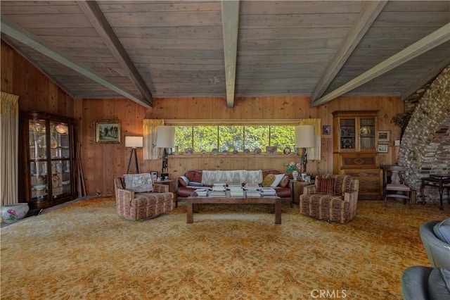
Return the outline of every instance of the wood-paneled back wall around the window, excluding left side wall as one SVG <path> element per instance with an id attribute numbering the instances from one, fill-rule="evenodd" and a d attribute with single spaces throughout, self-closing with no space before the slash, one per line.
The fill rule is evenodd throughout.
<path id="1" fill-rule="evenodd" d="M 146 109 L 127 99 L 80 99 L 75 101 L 75 115 L 82 120 L 79 134 L 83 144 L 83 165 L 86 185 L 90 193 L 113 193 L 113 178 L 127 169 L 130 149 L 124 144 L 96 144 L 95 123 L 102 119 L 119 119 L 122 122 L 122 139 L 125 135 L 142 135 L 144 118 L 170 120 L 193 119 L 300 119 L 321 118 L 322 125 L 332 125 L 332 112 L 340 110 L 378 110 L 380 130 L 392 131 L 392 144 L 399 139 L 399 129 L 390 123 L 392 115 L 403 111 L 403 101 L 386 96 L 340 97 L 319 108 L 312 108 L 307 96 L 238 98 L 234 108 L 227 108 L 223 98 L 170 98 L 155 99 L 153 109 Z M 180 149 L 182 152 L 183 149 Z M 389 154 L 380 154 L 380 163 L 394 163 L 396 156 L 391 147 Z M 161 161 L 143 161 L 143 151 L 138 149 L 139 170 L 161 171 Z M 169 173 L 172 178 L 186 170 L 269 169 L 285 170 L 285 163 L 300 161 L 297 156 L 260 155 L 179 155 L 169 156 Z M 134 171 L 134 166 L 131 165 Z M 309 172 L 333 172 L 332 135 L 322 137 L 321 161 L 309 161 Z"/>

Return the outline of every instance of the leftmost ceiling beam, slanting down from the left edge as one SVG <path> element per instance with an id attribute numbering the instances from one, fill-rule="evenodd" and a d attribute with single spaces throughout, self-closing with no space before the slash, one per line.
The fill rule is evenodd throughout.
<path id="1" fill-rule="evenodd" d="M 131 99 L 136 103 L 145 106 L 146 108 L 151 108 L 148 102 L 141 97 L 131 93 L 124 87 L 120 87 L 120 85 L 117 85 L 115 82 L 112 82 L 107 77 L 104 77 L 103 75 L 97 73 L 95 70 L 82 65 L 82 63 L 76 61 L 74 58 L 63 54 L 62 52 L 58 51 L 58 49 L 54 48 L 50 44 L 47 44 L 46 42 L 44 42 L 44 40 L 39 39 L 39 37 L 33 35 L 31 32 L 24 30 L 22 27 L 13 23 L 3 15 L 1 16 L 1 32 L 3 32 L 5 35 L 8 35 L 9 37 L 12 37 L 13 39 L 18 40 L 19 42 L 22 42 L 27 46 L 30 46 L 32 49 L 38 51 L 39 53 L 44 54 L 45 56 L 49 56 L 49 58 L 53 59 L 54 61 L 58 61 L 58 63 L 61 63 L 66 67 L 77 71 L 81 75 L 94 80 L 98 84 L 103 85 L 104 87 L 108 87 L 108 89 L 117 92 L 117 94 L 121 94 L 122 96 L 125 96 L 128 99 Z"/>

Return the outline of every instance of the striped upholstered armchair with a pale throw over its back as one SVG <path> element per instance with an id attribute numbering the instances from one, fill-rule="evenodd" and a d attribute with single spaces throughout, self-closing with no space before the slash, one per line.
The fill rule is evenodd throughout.
<path id="1" fill-rule="evenodd" d="M 168 185 L 153 184 L 149 173 L 126 174 L 114 180 L 117 215 L 142 220 L 172 211 L 174 194 Z"/>

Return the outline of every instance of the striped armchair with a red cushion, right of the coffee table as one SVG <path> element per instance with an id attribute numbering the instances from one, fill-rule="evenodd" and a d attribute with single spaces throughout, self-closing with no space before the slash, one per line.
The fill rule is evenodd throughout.
<path id="1" fill-rule="evenodd" d="M 347 223 L 356 215 L 359 180 L 349 175 L 316 176 L 314 185 L 300 195 L 300 213 L 313 218 Z"/>

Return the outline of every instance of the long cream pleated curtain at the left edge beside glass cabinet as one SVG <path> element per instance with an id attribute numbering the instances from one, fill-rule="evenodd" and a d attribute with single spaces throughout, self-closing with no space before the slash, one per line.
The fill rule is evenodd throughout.
<path id="1" fill-rule="evenodd" d="M 5 92 L 0 96 L 0 206 L 3 206 L 19 201 L 19 96 Z"/>

